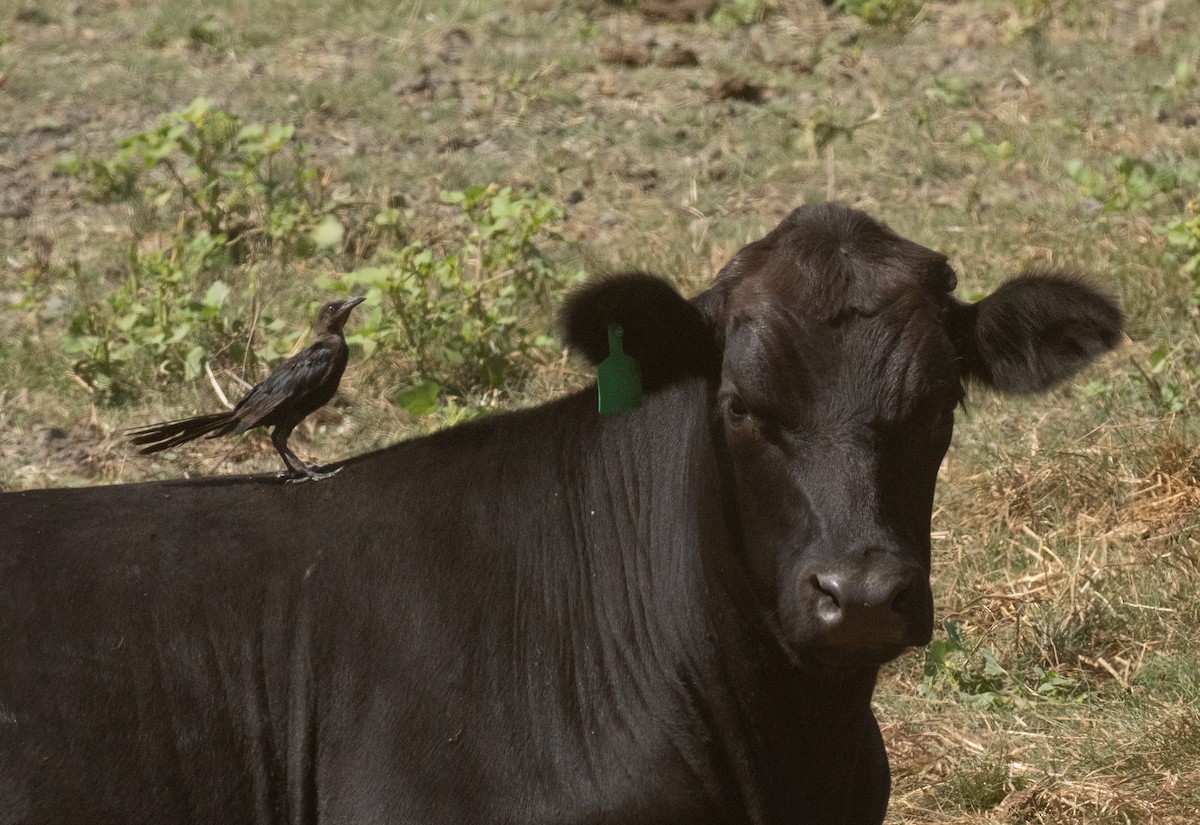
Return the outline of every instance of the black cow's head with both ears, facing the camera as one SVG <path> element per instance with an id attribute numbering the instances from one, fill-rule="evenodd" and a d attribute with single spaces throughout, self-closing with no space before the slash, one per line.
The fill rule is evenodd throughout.
<path id="1" fill-rule="evenodd" d="M 648 391 L 709 379 L 752 590 L 797 660 L 878 664 L 926 643 L 934 484 L 964 384 L 1044 390 L 1121 337 L 1120 309 L 1070 277 L 977 303 L 954 287 L 944 255 L 822 205 L 691 301 L 625 275 L 564 311 L 593 362 L 622 324 Z"/>

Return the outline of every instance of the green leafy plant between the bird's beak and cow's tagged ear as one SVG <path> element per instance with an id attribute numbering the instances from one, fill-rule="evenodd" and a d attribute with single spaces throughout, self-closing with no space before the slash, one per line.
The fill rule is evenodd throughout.
<path id="1" fill-rule="evenodd" d="M 528 359 L 553 345 L 552 307 L 583 276 L 552 265 L 541 243 L 560 240 L 562 207 L 551 198 L 491 185 L 444 192 L 460 207 L 462 233 L 434 246 L 414 241 L 368 267 L 323 278 L 326 289 L 367 289 L 362 324 L 348 336 L 370 357 L 402 351 L 410 374 L 395 395 L 420 415 L 443 389 L 456 393 L 503 386 Z"/>

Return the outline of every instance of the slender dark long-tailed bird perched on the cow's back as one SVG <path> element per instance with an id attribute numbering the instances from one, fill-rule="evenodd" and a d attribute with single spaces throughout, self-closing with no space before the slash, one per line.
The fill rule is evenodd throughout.
<path id="1" fill-rule="evenodd" d="M 232 410 L 131 429 L 130 441 L 145 445 L 139 452 L 150 454 L 202 435 L 218 438 L 245 433 L 254 427 L 274 427 L 271 444 L 288 468 L 287 477 L 318 480 L 334 475 L 336 470 L 317 472 L 296 458 L 288 448 L 288 436 L 296 424 L 337 391 L 349 355 L 342 327 L 350 309 L 362 301 L 361 297 L 350 297 L 323 306 L 313 325 L 313 342 L 272 369 Z"/>

